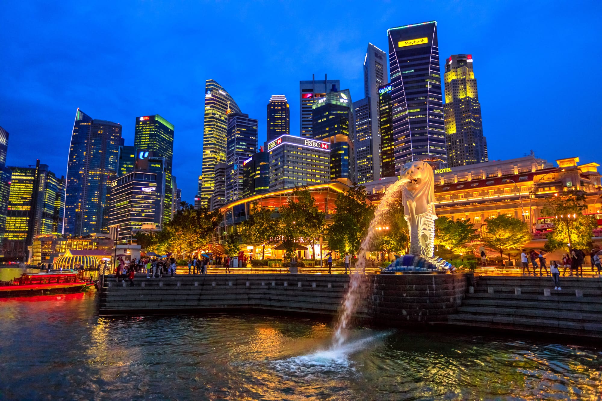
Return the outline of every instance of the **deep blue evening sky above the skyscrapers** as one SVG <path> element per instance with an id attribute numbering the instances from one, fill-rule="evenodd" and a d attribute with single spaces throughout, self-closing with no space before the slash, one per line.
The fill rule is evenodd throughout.
<path id="1" fill-rule="evenodd" d="M 368 42 L 438 21 L 441 65 L 472 54 L 489 158 L 531 149 L 602 164 L 600 1 L 4 1 L 0 126 L 10 166 L 66 173 L 76 108 L 123 125 L 161 114 L 175 125 L 173 173 L 192 202 L 201 172 L 205 79 L 216 79 L 265 140 L 270 95 L 291 104 L 299 80 L 324 73 L 364 97 Z M 442 76 L 442 74 L 441 74 Z"/>

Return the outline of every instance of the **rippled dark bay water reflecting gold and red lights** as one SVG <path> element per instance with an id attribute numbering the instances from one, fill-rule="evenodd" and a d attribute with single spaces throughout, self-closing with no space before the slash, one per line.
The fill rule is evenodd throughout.
<path id="1" fill-rule="evenodd" d="M 602 348 L 258 315 L 99 317 L 0 299 L 0 399 L 600 400 Z M 559 338 L 559 343 L 562 343 Z"/>

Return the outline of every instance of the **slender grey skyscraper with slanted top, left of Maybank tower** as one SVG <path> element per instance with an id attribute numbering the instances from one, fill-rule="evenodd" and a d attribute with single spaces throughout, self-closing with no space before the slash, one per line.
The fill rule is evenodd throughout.
<path id="1" fill-rule="evenodd" d="M 380 135 L 378 89 L 385 83 L 386 54 L 372 43 L 364 57 L 364 99 L 355 109 L 355 160 L 359 184 L 380 178 Z"/>

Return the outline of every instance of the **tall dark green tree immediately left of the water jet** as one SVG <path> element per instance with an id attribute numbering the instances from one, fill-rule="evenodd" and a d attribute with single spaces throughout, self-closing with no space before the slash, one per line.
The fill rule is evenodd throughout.
<path id="1" fill-rule="evenodd" d="M 374 207 L 366 204 L 365 187 L 355 184 L 349 191 L 338 194 L 335 206 L 337 213 L 328 229 L 328 245 L 341 254 L 356 253 L 374 218 Z"/>

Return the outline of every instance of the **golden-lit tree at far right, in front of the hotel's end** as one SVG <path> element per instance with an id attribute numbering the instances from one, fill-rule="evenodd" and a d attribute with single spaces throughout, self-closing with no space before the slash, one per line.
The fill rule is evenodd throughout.
<path id="1" fill-rule="evenodd" d="M 548 241 L 544 246 L 545 250 L 566 249 L 570 255 L 573 249 L 590 249 L 592 230 L 598 225 L 593 216 L 583 215 L 587 210 L 583 191 L 548 198 L 541 213 L 544 216 L 554 216 L 556 221 L 554 231 L 546 236 Z"/>

